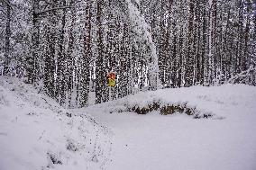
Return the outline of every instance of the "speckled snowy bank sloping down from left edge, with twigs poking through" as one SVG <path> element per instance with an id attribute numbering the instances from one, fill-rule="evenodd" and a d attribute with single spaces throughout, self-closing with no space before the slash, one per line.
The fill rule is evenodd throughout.
<path id="1" fill-rule="evenodd" d="M 0 169 L 105 169 L 112 133 L 32 85 L 0 76 Z"/>

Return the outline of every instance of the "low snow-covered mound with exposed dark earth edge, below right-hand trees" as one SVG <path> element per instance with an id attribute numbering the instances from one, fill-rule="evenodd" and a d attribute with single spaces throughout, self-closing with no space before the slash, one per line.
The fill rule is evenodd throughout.
<path id="1" fill-rule="evenodd" d="M 256 113 L 256 87 L 251 85 L 192 86 L 187 88 L 161 89 L 153 92 L 133 94 L 109 103 L 90 106 L 104 112 L 137 112 L 146 114 L 159 111 L 162 115 L 186 113 L 193 118 L 222 120 L 233 116 L 223 112 L 225 106 Z"/>

